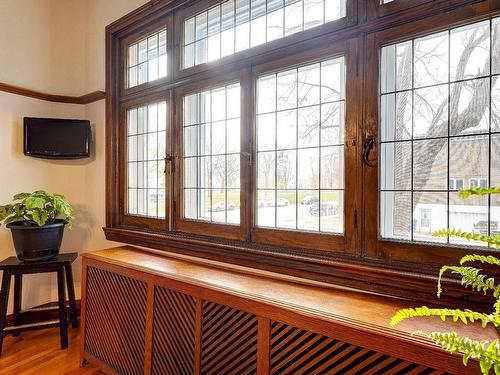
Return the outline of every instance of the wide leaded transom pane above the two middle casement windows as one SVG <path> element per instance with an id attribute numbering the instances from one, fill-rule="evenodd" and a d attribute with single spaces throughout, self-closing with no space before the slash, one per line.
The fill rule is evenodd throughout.
<path id="1" fill-rule="evenodd" d="M 346 0 L 229 0 L 184 20 L 183 68 L 345 17 Z"/>

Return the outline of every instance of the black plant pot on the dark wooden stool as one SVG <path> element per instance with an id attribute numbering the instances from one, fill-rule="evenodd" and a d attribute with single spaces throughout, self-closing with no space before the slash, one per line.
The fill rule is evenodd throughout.
<path id="1" fill-rule="evenodd" d="M 28 221 L 18 221 L 7 225 L 12 232 L 14 248 L 19 260 L 39 262 L 55 258 L 59 254 L 64 234 L 65 220 L 39 227 Z"/>

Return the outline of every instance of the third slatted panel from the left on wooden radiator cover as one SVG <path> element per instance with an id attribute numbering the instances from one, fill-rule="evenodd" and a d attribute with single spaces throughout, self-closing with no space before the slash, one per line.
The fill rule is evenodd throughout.
<path id="1" fill-rule="evenodd" d="M 257 368 L 257 317 L 203 302 L 201 373 L 203 375 L 255 374 Z"/>

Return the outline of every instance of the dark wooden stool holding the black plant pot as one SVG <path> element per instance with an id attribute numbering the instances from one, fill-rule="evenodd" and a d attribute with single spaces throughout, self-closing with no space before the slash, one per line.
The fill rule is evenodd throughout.
<path id="1" fill-rule="evenodd" d="M 21 332 L 49 327 L 59 327 L 61 349 L 66 349 L 68 347 L 68 323 L 71 322 L 73 328 L 78 327 L 75 288 L 73 285 L 73 272 L 71 269 L 71 265 L 77 257 L 78 253 L 69 253 L 59 254 L 56 258 L 43 262 L 22 262 L 16 257 L 9 257 L 0 262 L 0 270 L 3 271 L 2 287 L 0 290 L 0 356 L 2 355 L 3 338 L 6 335 L 11 334 L 18 336 Z M 57 273 L 58 307 L 21 311 L 23 275 L 46 272 Z M 6 325 L 5 320 L 7 316 L 7 304 L 9 302 L 10 281 L 12 276 L 14 276 L 14 314 L 12 324 Z M 64 285 L 65 277 L 69 296 L 69 321 Z M 59 319 L 22 324 L 24 316 L 28 314 L 36 314 L 42 310 L 58 311 Z"/>

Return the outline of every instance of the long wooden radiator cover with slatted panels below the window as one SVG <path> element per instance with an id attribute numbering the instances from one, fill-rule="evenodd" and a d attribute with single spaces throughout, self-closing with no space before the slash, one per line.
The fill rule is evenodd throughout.
<path id="1" fill-rule="evenodd" d="M 326 298 L 397 308 L 131 247 L 85 254 L 82 363 L 127 375 L 479 373 L 407 332 L 329 315 Z"/>

